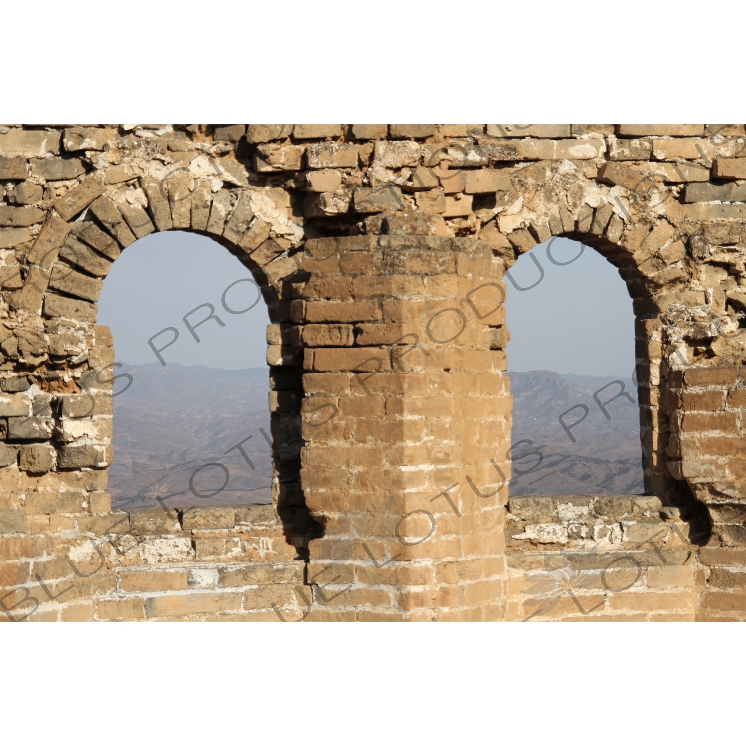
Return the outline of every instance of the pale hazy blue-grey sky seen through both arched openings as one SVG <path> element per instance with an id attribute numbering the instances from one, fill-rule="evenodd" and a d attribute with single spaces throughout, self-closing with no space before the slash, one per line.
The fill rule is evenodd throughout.
<path id="1" fill-rule="evenodd" d="M 554 239 L 551 256 L 566 262 L 577 256 L 580 244 Z M 507 324 L 512 339 L 508 366 L 512 371 L 548 369 L 579 375 L 630 377 L 634 366 L 632 301 L 617 270 L 592 248 L 574 262 L 557 266 L 547 257 L 546 244 L 524 254 L 510 269 L 507 286 Z M 104 282 L 99 301 L 99 323 L 111 327 L 116 360 L 157 363 L 148 339 L 166 327 L 178 337 L 160 354 L 166 362 L 240 369 L 266 365 L 265 331 L 269 318 L 263 299 L 246 313 L 231 314 L 222 307 L 225 289 L 251 273 L 236 257 L 205 236 L 168 231 L 145 236 L 122 252 Z M 253 283 L 242 282 L 226 296 L 228 307 L 242 310 L 257 300 Z M 212 304 L 214 319 L 195 327 L 197 342 L 183 317 L 202 304 Z M 192 326 L 209 315 L 201 308 L 188 316 Z M 153 340 L 162 348 L 174 334 Z"/>

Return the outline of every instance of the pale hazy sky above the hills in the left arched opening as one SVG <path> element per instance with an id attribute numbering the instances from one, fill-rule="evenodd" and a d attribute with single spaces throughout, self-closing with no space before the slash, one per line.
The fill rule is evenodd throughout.
<path id="1" fill-rule="evenodd" d="M 157 363 L 148 339 L 175 327 L 176 342 L 160 353 L 167 363 L 225 369 L 265 366 L 269 317 L 264 299 L 238 315 L 222 307 L 225 289 L 242 278 L 251 278 L 251 272 L 212 239 L 184 231 L 152 233 L 125 248 L 114 262 L 98 302 L 98 323 L 111 328 L 116 360 L 122 363 Z M 242 310 L 257 300 L 258 292 L 253 283 L 242 282 L 228 291 L 225 302 Z M 197 342 L 183 317 L 202 304 L 212 304 L 225 326 L 214 319 L 196 326 L 210 309 L 195 311 L 187 321 L 196 327 Z M 167 331 L 153 344 L 161 348 L 173 338 Z"/>

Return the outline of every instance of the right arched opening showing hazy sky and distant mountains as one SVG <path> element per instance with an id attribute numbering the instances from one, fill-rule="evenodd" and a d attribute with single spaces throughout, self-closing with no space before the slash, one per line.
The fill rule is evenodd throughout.
<path id="1" fill-rule="evenodd" d="M 510 493 L 642 494 L 635 319 L 617 269 L 554 238 L 521 255 L 506 286 Z"/>

